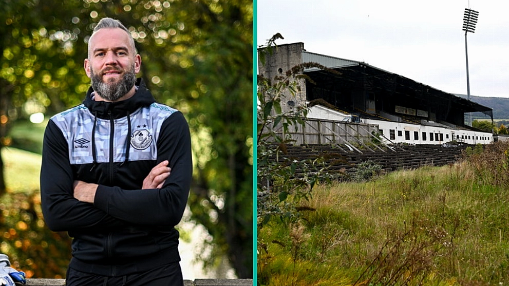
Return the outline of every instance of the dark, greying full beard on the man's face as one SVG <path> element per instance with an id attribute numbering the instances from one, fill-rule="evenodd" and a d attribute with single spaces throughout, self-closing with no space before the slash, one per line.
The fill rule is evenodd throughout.
<path id="1" fill-rule="evenodd" d="M 133 66 L 127 70 L 117 82 L 103 82 L 102 75 L 91 71 L 92 88 L 101 98 L 108 101 L 117 101 L 123 97 L 136 83 L 136 73 Z"/>

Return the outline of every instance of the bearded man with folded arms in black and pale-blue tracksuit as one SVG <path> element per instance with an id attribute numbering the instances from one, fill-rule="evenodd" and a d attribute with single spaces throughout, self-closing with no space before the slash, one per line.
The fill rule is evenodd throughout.
<path id="1" fill-rule="evenodd" d="M 88 42 L 85 100 L 46 127 L 42 209 L 73 238 L 67 286 L 183 285 L 175 225 L 191 184 L 190 132 L 136 79 L 140 67 L 129 30 L 103 18 Z"/>

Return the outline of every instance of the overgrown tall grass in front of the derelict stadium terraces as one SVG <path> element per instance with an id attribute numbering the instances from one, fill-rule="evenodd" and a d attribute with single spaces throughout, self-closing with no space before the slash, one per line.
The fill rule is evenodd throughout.
<path id="1" fill-rule="evenodd" d="M 317 186 L 298 224 L 259 231 L 258 284 L 509 283 L 508 150 Z"/>

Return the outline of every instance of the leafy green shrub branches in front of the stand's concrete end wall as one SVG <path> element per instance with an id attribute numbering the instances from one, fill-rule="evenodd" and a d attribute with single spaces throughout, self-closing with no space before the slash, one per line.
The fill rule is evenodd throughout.
<path id="1" fill-rule="evenodd" d="M 265 63 L 277 49 L 277 39 L 283 37 L 277 33 L 268 40 L 267 46 L 260 47 L 261 63 Z M 295 159 L 290 158 L 287 152 L 288 147 L 295 143 L 290 134 L 305 127 L 309 107 L 297 104 L 291 110 L 283 110 L 281 101 L 295 98 L 300 91 L 299 83 L 304 80 L 313 83 L 303 73 L 309 68 L 340 74 L 317 63 L 303 63 L 273 79 L 258 75 L 258 227 L 267 224 L 272 217 L 283 221 L 295 220 L 298 217 L 297 203 L 310 198 L 316 183 L 331 178 L 323 158 Z"/>

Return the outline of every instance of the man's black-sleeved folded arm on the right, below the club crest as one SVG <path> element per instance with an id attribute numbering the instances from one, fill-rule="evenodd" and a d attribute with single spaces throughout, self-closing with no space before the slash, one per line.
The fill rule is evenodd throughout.
<path id="1" fill-rule="evenodd" d="M 169 116 L 161 126 L 157 139 L 157 162 L 163 161 L 168 161 L 171 174 L 163 180 L 162 185 L 159 183 L 162 177 L 146 179 L 146 186 L 152 188 L 127 190 L 117 186 L 98 185 L 93 205 L 108 215 L 129 223 L 156 227 L 175 226 L 180 222 L 187 203 L 193 166 L 191 136 L 187 122 L 180 112 Z M 157 174 L 160 173 L 155 171 L 154 178 L 158 177 Z M 144 185 L 147 182 L 144 182 Z"/>

